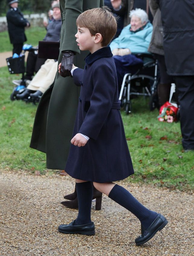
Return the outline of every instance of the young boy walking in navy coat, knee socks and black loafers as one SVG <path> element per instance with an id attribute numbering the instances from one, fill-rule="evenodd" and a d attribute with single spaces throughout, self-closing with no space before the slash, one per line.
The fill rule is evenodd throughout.
<path id="1" fill-rule="evenodd" d="M 116 33 L 116 20 L 107 8 L 94 8 L 80 14 L 76 24 L 80 50 L 90 51 L 84 70 L 75 66 L 71 70 L 81 92 L 65 171 L 76 179 L 79 210 L 76 220 L 60 225 L 58 230 L 66 234 L 95 234 L 91 221 L 93 183 L 140 220 L 141 235 L 135 243 L 142 245 L 168 221 L 113 183 L 134 173 L 119 111 L 116 68 L 107 46 Z"/>

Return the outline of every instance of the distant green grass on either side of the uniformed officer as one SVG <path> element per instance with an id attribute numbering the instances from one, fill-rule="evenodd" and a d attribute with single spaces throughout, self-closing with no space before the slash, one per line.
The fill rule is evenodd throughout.
<path id="1" fill-rule="evenodd" d="M 44 27 L 30 27 L 25 30 L 27 37 L 27 44 L 33 46 L 38 45 L 38 41 L 43 40 L 46 35 L 46 29 Z M 1 44 L 0 52 L 9 52 L 12 51 L 13 45 L 10 43 L 8 31 L 0 32 Z"/>

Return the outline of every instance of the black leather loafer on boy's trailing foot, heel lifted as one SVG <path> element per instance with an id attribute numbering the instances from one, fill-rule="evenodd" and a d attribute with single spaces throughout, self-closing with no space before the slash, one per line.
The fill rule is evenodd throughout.
<path id="1" fill-rule="evenodd" d="M 145 230 L 142 228 L 142 234 L 135 239 L 136 245 L 142 245 L 149 241 L 156 234 L 156 232 L 163 229 L 167 223 L 167 219 L 162 214 L 158 214 L 148 229 Z"/>

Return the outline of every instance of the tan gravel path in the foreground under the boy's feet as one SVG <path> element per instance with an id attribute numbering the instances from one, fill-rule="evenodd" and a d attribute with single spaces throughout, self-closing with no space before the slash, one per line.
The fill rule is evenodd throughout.
<path id="1" fill-rule="evenodd" d="M 145 245 L 135 245 L 139 221 L 105 195 L 101 211 L 95 211 L 92 203 L 95 236 L 58 233 L 59 224 L 77 215 L 77 210 L 60 204 L 63 195 L 74 190 L 74 180 L 0 171 L 0 256 L 194 255 L 192 195 L 123 181 L 118 184 L 169 220 Z"/>

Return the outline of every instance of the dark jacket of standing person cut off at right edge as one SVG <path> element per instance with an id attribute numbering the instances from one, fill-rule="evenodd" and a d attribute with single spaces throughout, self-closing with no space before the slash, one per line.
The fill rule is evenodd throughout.
<path id="1" fill-rule="evenodd" d="M 194 75 L 194 2 L 160 0 L 167 73 Z"/>

